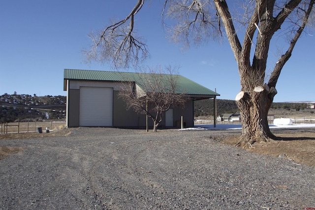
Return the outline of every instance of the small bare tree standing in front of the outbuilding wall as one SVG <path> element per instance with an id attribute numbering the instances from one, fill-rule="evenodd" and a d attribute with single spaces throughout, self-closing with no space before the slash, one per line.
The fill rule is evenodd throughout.
<path id="1" fill-rule="evenodd" d="M 135 78 L 126 78 L 119 97 L 137 113 L 146 114 L 154 123 L 156 132 L 162 116 L 171 106 L 183 106 L 186 102 L 185 93 L 178 92 L 178 74 L 175 68 L 167 67 L 165 74 L 161 67 L 138 73 Z"/>

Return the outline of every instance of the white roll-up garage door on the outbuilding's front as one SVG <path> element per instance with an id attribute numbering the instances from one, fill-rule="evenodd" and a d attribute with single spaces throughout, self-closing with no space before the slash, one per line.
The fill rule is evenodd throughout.
<path id="1" fill-rule="evenodd" d="M 113 126 L 113 89 L 80 87 L 80 126 Z"/>

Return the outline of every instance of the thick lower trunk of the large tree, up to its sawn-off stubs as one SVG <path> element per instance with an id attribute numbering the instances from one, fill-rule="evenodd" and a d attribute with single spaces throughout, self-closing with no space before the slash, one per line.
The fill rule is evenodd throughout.
<path id="1" fill-rule="evenodd" d="M 268 126 L 267 115 L 277 92 L 274 88 L 255 87 L 252 91 L 241 91 L 235 98 L 241 111 L 242 135 L 237 146 L 251 147 L 252 143 L 277 140 Z"/>

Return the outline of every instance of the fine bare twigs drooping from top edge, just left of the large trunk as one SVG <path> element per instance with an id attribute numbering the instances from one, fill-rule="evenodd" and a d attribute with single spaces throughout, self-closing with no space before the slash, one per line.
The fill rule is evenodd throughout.
<path id="1" fill-rule="evenodd" d="M 165 0 L 162 18 L 177 21 L 169 29 L 170 37 L 175 43 L 181 42 L 184 48 L 189 48 L 190 41 L 199 45 L 211 38 L 218 39 L 219 18 L 213 14 L 215 7 L 210 0 Z"/>

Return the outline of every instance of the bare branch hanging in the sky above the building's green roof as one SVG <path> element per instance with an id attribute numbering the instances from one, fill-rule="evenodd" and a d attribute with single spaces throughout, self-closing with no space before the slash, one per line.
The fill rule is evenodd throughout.
<path id="1" fill-rule="evenodd" d="M 87 61 L 112 62 L 114 68 L 128 68 L 129 64 L 137 67 L 149 56 L 147 45 L 142 37 L 134 31 L 134 16 L 142 8 L 144 0 L 138 0 L 137 4 L 124 20 L 113 22 L 102 32 L 89 35 L 92 45 L 85 50 Z M 126 23 L 129 21 L 129 25 Z"/>

